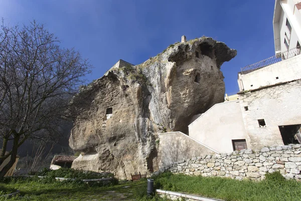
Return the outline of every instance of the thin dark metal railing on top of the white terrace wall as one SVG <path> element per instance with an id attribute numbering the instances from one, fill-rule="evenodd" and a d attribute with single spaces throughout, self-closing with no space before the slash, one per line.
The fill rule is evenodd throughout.
<path id="1" fill-rule="evenodd" d="M 241 68 L 241 74 L 247 74 L 247 73 L 253 72 L 254 70 L 258 70 L 260 68 L 272 65 L 274 63 L 278 63 L 278 62 L 283 61 L 285 59 L 297 56 L 297 55 L 300 54 L 300 49 L 301 49 L 300 47 L 295 47 L 295 48 L 290 49 L 288 51 L 277 53 L 275 56 L 264 59 L 264 60 L 259 61 L 257 63 L 247 65 L 247 66 Z"/>

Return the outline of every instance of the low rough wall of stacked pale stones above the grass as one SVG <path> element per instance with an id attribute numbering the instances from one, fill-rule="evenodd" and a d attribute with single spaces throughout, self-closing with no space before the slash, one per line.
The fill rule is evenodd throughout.
<path id="1" fill-rule="evenodd" d="M 214 154 L 175 163 L 160 171 L 188 175 L 222 176 L 235 179 L 261 180 L 267 172 L 280 171 L 285 178 L 300 179 L 301 145 L 290 144 L 263 147 L 259 152 L 251 149 L 228 154 Z"/>

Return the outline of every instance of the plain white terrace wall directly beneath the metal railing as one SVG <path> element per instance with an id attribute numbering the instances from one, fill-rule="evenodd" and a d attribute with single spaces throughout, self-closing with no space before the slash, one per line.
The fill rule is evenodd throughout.
<path id="1" fill-rule="evenodd" d="M 278 77 L 278 79 L 276 79 L 276 77 Z M 259 87 L 300 78 L 301 55 L 297 55 L 247 74 L 239 74 L 238 84 L 240 91 L 253 90 Z"/>

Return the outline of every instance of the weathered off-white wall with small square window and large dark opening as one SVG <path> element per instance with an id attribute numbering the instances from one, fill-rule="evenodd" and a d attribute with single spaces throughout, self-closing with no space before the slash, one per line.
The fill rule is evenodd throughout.
<path id="1" fill-rule="evenodd" d="M 296 80 L 244 95 L 241 111 L 251 149 L 283 145 L 278 126 L 301 124 L 300 94 L 301 80 Z M 264 119 L 266 127 L 259 127 L 259 119 Z"/>

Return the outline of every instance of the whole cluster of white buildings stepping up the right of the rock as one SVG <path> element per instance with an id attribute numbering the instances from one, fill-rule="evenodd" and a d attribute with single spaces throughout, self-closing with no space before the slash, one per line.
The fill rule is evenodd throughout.
<path id="1" fill-rule="evenodd" d="M 168 143 L 180 132 L 160 134 L 160 167 L 200 156 L 199 147 L 208 154 L 301 143 L 301 4 L 276 0 L 273 23 L 275 56 L 241 68 L 240 91 L 196 115 L 185 143 Z"/>

